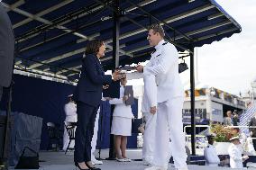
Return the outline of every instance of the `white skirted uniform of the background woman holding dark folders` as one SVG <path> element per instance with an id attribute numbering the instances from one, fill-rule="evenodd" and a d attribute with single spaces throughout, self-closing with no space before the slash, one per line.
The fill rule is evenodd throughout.
<path id="1" fill-rule="evenodd" d="M 124 87 L 120 86 L 120 98 L 114 98 L 109 101 L 114 104 L 113 121 L 111 127 L 111 134 L 121 136 L 132 135 L 132 119 L 133 112 L 131 105 L 126 105 L 123 102 Z"/>

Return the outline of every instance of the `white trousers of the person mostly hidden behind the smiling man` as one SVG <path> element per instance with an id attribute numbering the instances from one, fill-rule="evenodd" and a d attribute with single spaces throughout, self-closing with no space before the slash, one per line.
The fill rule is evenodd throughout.
<path id="1" fill-rule="evenodd" d="M 143 118 L 146 124 L 143 134 L 142 159 L 152 164 L 157 115 L 143 112 Z"/>

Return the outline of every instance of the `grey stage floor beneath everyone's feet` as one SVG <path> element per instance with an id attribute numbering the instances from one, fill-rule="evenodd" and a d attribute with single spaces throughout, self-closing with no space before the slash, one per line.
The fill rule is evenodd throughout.
<path id="1" fill-rule="evenodd" d="M 96 155 L 98 157 L 98 155 Z M 108 157 L 108 149 L 104 149 L 101 152 L 101 157 Z M 128 149 L 127 157 L 132 159 L 142 158 L 142 149 Z M 40 170 L 76 170 L 73 164 L 73 152 L 68 152 L 67 155 L 64 152 L 51 152 L 41 151 L 40 153 Z M 148 166 L 143 166 L 142 161 L 133 162 L 117 162 L 115 160 L 103 160 L 104 164 L 100 167 L 102 170 L 143 170 Z M 10 169 L 14 169 L 10 167 Z M 78 169 L 78 168 L 77 168 Z M 173 165 L 169 164 L 169 170 L 174 170 Z M 194 166 L 189 165 L 189 170 L 230 170 L 229 167 L 211 167 L 211 166 Z M 246 168 L 245 168 L 246 169 Z"/>

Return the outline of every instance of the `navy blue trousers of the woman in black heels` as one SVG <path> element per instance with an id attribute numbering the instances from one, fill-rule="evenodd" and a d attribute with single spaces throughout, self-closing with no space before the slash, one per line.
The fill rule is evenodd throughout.
<path id="1" fill-rule="evenodd" d="M 87 103 L 77 103 L 78 126 L 75 139 L 75 162 L 91 160 L 91 141 L 94 135 L 97 109 L 98 107 Z"/>

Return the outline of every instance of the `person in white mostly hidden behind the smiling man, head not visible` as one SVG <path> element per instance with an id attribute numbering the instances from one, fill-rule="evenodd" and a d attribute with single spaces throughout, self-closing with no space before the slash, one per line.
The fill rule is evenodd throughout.
<path id="1" fill-rule="evenodd" d="M 143 131 L 142 160 L 144 166 L 152 164 L 153 147 L 156 127 L 156 107 L 157 107 L 157 85 L 156 76 L 150 72 L 143 72 L 144 94 L 142 98 L 142 113 L 145 127 Z"/>

